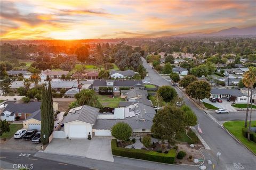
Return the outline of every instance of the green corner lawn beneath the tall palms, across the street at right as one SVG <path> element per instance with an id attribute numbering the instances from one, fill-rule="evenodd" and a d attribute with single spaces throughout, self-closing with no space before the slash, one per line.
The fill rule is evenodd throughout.
<path id="1" fill-rule="evenodd" d="M 252 126 L 256 125 L 256 121 L 252 121 Z M 253 141 L 247 141 L 242 134 L 242 128 L 244 127 L 244 121 L 229 121 L 223 123 L 223 126 L 232 133 L 240 142 L 246 147 L 250 148 L 254 154 L 256 154 L 256 143 Z"/>

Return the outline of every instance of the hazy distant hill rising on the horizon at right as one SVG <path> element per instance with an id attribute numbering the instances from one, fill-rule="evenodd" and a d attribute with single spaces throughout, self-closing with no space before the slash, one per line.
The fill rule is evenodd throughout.
<path id="1" fill-rule="evenodd" d="M 212 37 L 212 36 L 247 36 L 247 35 L 256 35 L 256 26 L 247 27 L 247 28 L 228 28 L 220 30 L 217 32 L 211 33 L 202 33 L 202 32 L 191 32 L 183 33 L 180 35 L 175 35 L 173 37 Z"/>

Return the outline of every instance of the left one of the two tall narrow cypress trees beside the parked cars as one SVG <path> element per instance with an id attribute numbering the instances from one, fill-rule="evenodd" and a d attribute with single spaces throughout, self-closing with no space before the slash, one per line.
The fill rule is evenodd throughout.
<path id="1" fill-rule="evenodd" d="M 43 86 L 42 88 L 42 102 L 41 102 L 41 141 L 43 145 L 48 143 L 49 140 L 49 119 L 47 112 L 47 98 L 46 90 Z"/>

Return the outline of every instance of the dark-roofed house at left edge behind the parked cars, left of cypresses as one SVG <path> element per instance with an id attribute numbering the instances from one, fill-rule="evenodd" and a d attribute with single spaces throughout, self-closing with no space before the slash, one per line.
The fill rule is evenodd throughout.
<path id="1" fill-rule="evenodd" d="M 25 120 L 33 112 L 40 109 L 41 102 L 33 101 L 29 103 L 8 103 L 1 113 L 1 120 L 15 121 L 15 117 L 19 116 L 19 120 Z"/>

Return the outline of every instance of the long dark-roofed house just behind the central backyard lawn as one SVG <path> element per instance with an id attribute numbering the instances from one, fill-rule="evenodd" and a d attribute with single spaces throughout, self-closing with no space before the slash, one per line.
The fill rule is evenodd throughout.
<path id="1" fill-rule="evenodd" d="M 141 80 L 94 80 L 92 89 L 99 91 L 99 87 L 110 87 L 114 92 L 119 91 L 120 88 L 144 89 Z"/>

